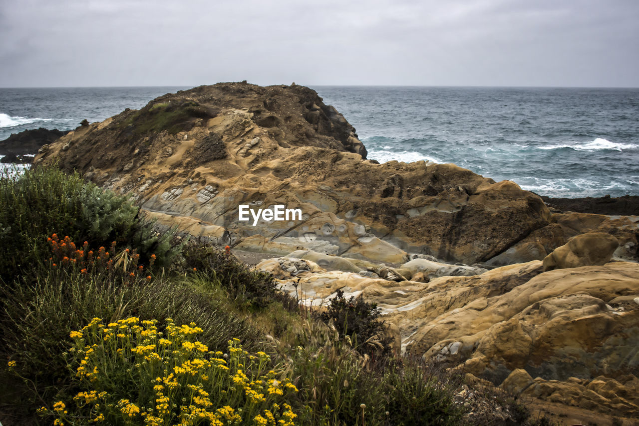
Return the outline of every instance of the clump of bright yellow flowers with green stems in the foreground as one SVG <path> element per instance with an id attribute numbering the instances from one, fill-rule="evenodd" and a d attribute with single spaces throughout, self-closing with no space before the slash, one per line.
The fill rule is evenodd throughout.
<path id="1" fill-rule="evenodd" d="M 238 338 L 226 353 L 210 351 L 195 323 L 165 323 L 95 318 L 72 331 L 73 395 L 40 413 L 70 425 L 295 424 L 288 400 L 298 390 L 265 352 L 245 351 Z"/>

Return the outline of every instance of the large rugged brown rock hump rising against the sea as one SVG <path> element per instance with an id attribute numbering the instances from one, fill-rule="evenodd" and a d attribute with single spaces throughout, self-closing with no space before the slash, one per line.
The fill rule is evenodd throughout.
<path id="1" fill-rule="evenodd" d="M 355 129 L 303 86 L 164 95 L 43 146 L 36 162 L 53 161 L 134 194 L 167 224 L 249 251 L 500 265 L 543 259 L 573 232 L 512 182 L 453 164 L 367 161 Z M 240 204 L 299 208 L 302 220 L 252 226 L 238 220 Z M 633 244 L 627 257 L 635 232 L 615 235 Z"/>

